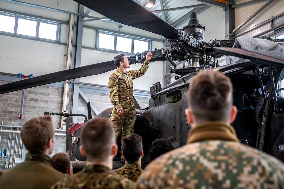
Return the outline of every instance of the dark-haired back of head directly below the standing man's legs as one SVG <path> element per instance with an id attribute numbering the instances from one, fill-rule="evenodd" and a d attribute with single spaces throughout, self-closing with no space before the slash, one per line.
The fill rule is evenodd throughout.
<path id="1" fill-rule="evenodd" d="M 128 163 L 134 163 L 140 158 L 143 150 L 142 137 L 132 133 L 122 138 L 122 151 Z"/>

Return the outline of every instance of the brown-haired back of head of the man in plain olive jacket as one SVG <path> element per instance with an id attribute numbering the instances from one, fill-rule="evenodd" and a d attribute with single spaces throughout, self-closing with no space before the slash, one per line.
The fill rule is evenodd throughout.
<path id="1" fill-rule="evenodd" d="M 55 134 L 50 116 L 33 117 L 26 121 L 21 129 L 21 137 L 30 153 L 42 153 L 46 144 Z"/>

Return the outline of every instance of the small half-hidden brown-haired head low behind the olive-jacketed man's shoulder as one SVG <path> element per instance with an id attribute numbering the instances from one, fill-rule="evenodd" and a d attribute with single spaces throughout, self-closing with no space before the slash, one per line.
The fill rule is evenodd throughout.
<path id="1" fill-rule="evenodd" d="M 69 158 L 69 154 L 66 152 L 60 152 L 52 156 L 52 167 L 61 173 L 65 173 L 68 176 L 73 175 L 73 167 Z"/>

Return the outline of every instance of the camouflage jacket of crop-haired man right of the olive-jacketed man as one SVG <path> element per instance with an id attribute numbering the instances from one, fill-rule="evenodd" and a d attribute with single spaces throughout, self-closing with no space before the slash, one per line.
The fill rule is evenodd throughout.
<path id="1" fill-rule="evenodd" d="M 82 171 L 60 180 L 51 188 L 133 188 L 134 183 L 103 165 L 87 165 Z"/>

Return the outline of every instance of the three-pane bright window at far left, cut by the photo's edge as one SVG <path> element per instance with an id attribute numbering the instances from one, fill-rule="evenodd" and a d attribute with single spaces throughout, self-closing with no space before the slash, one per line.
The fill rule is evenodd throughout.
<path id="1" fill-rule="evenodd" d="M 0 33 L 59 42 L 60 23 L 0 11 Z"/>

